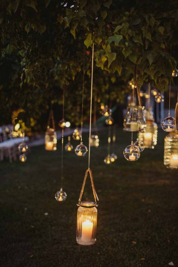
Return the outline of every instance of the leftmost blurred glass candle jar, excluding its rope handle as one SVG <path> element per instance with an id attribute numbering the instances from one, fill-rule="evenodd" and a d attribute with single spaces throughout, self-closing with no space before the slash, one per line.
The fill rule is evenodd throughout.
<path id="1" fill-rule="evenodd" d="M 53 128 L 47 129 L 45 133 L 45 149 L 50 151 L 57 149 L 57 134 Z"/>

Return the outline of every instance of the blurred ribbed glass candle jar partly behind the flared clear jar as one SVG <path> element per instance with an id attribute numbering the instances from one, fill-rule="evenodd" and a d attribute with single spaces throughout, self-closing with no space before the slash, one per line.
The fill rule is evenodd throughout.
<path id="1" fill-rule="evenodd" d="M 145 148 L 155 148 L 157 144 L 158 125 L 151 120 L 147 120 L 145 132 L 139 132 L 139 141 L 144 143 Z"/>

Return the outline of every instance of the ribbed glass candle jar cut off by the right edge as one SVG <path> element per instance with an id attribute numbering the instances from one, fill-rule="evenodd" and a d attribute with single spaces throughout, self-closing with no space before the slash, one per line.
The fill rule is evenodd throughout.
<path id="1" fill-rule="evenodd" d="M 164 165 L 178 170 L 178 130 L 169 133 L 164 138 Z"/>

